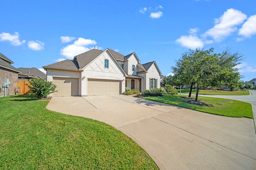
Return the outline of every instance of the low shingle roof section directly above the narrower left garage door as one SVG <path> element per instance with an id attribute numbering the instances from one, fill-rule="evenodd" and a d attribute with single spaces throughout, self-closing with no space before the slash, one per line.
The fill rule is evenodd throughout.
<path id="1" fill-rule="evenodd" d="M 55 68 L 55 69 L 59 68 L 59 69 L 74 70 L 74 71 L 79 70 L 77 61 L 73 61 L 73 60 L 63 60 L 58 63 L 53 63 L 47 66 L 43 66 L 43 68 Z"/>

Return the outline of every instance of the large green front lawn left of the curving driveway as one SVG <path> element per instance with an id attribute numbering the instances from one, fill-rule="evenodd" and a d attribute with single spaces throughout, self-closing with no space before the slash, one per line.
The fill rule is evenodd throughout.
<path id="1" fill-rule="evenodd" d="M 1 169 L 158 169 L 121 131 L 47 104 L 24 95 L 0 98 Z"/>

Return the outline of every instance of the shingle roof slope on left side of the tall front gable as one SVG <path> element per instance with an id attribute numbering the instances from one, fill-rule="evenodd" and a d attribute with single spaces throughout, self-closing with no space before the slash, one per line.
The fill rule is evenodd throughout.
<path id="1" fill-rule="evenodd" d="M 80 55 L 77 55 L 74 57 L 76 58 L 78 63 L 78 68 L 83 68 L 87 64 L 89 64 L 91 61 L 93 61 L 98 55 L 100 55 L 103 51 L 98 49 L 92 49 L 90 51 L 86 51 L 85 53 L 82 53 Z"/>

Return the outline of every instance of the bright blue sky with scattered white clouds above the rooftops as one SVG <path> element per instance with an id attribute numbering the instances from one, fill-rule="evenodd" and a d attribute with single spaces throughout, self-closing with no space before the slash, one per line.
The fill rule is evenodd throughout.
<path id="1" fill-rule="evenodd" d="M 16 68 L 42 68 L 96 47 L 135 52 L 168 75 L 188 49 L 213 47 L 243 54 L 242 80 L 256 78 L 255 0 L 2 0 L 0 6 L 0 53 Z"/>

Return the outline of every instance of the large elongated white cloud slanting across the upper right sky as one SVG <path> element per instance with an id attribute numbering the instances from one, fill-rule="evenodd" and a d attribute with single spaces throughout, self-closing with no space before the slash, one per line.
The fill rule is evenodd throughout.
<path id="1" fill-rule="evenodd" d="M 211 29 L 208 29 L 202 37 L 206 38 L 210 36 L 214 41 L 220 42 L 225 37 L 228 37 L 231 33 L 237 30 L 236 25 L 240 25 L 246 20 L 247 16 L 241 11 L 228 9 L 224 14 L 214 19 L 215 25 Z"/>

